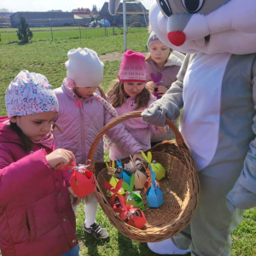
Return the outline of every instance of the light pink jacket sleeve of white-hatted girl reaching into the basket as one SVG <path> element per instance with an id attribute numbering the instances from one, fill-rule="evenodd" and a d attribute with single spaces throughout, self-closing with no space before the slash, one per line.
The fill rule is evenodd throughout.
<path id="1" fill-rule="evenodd" d="M 106 108 L 105 111 L 105 124 L 107 125 L 109 121 L 113 119 L 111 113 L 108 112 Z M 143 147 L 137 143 L 136 139 L 131 136 L 130 132 L 125 130 L 125 126 L 122 123 L 115 125 L 107 132 L 108 137 L 111 138 L 113 143 L 119 144 L 119 147 L 127 148 L 129 154 L 135 154 L 141 152 Z"/>

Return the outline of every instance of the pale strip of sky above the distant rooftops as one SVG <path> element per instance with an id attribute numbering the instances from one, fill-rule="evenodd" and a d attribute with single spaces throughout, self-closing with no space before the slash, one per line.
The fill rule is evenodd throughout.
<path id="1" fill-rule="evenodd" d="M 93 4 L 96 4 L 97 9 L 101 9 L 105 2 L 108 0 L 0 0 L 0 9 L 12 12 L 61 9 L 70 12 L 81 7 L 91 10 Z"/>

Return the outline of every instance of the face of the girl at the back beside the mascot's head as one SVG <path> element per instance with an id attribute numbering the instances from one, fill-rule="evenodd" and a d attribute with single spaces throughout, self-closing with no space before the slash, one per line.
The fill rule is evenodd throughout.
<path id="1" fill-rule="evenodd" d="M 164 65 L 170 54 L 171 49 L 165 44 L 157 41 L 150 45 L 149 52 L 152 60 L 159 66 Z"/>

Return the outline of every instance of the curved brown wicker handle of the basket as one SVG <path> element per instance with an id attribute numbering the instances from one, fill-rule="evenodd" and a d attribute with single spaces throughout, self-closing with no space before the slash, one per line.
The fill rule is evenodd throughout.
<path id="1" fill-rule="evenodd" d="M 94 155 L 94 153 L 96 151 L 96 147 L 97 147 L 98 143 L 100 142 L 100 140 L 102 139 L 103 135 L 109 129 L 113 128 L 113 126 L 118 125 L 120 122 L 123 122 L 126 119 L 141 117 L 142 113 L 143 113 L 142 111 L 132 111 L 132 112 L 129 112 L 129 113 L 124 113 L 122 115 L 119 115 L 115 119 L 111 120 L 107 125 L 105 125 L 102 128 L 102 130 L 98 133 L 98 135 L 95 138 L 95 140 L 93 141 L 93 143 L 91 143 L 91 145 L 90 145 L 90 150 L 89 150 L 87 159 L 91 160 L 91 165 L 90 165 L 90 168 L 89 168 L 91 171 L 93 171 L 93 169 L 94 169 L 93 155 Z M 172 124 L 172 121 L 170 119 L 166 119 L 166 125 L 169 125 L 169 127 L 174 132 L 177 146 L 179 148 L 183 148 L 183 146 L 184 146 L 183 137 L 182 137 L 181 133 L 177 130 L 177 127 Z"/>

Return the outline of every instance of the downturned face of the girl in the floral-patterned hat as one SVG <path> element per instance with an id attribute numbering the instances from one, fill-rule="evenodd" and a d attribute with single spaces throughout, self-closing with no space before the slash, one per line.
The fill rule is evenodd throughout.
<path id="1" fill-rule="evenodd" d="M 20 130 L 32 141 L 39 141 L 47 135 L 51 129 L 56 112 L 33 113 L 11 117 L 10 121 L 16 123 Z"/>

